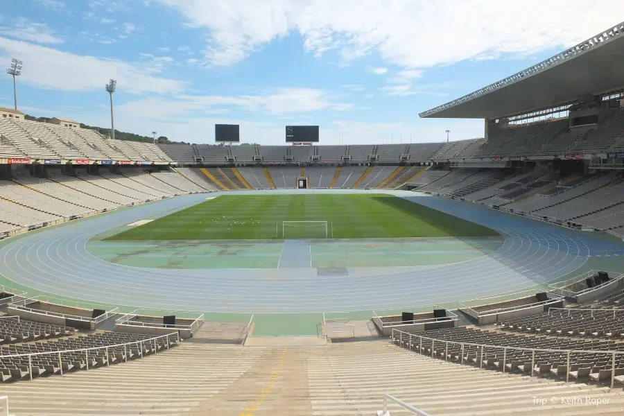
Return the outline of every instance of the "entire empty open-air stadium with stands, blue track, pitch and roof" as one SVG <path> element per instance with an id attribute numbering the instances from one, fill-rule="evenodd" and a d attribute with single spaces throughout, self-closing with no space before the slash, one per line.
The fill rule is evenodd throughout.
<path id="1" fill-rule="evenodd" d="M 4 414 L 621 415 L 623 55 L 619 24 L 419 114 L 484 120 L 443 143 L 0 108 Z"/>

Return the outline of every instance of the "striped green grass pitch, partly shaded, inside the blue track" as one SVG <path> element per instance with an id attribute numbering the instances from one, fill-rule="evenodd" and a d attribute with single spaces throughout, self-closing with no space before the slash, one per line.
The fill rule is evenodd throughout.
<path id="1" fill-rule="evenodd" d="M 383 194 L 219 196 L 107 240 L 335 239 L 497 236 L 487 227 Z"/>

